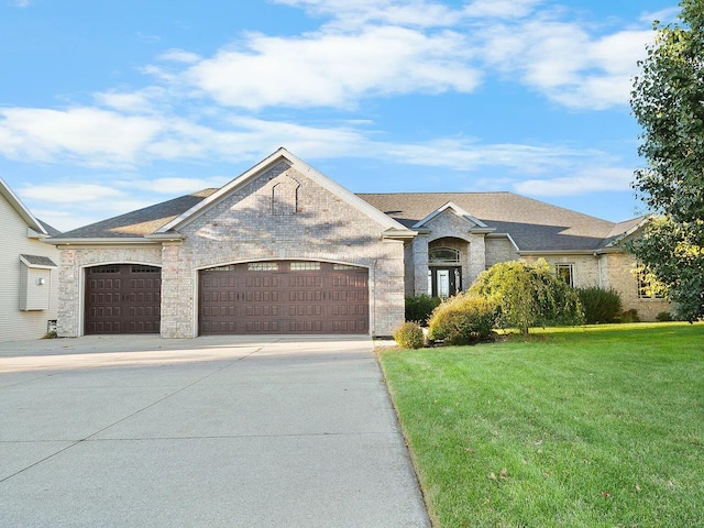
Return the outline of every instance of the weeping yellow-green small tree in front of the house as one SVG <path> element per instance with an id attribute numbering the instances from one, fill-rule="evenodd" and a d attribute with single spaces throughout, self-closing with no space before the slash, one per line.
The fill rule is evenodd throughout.
<path id="1" fill-rule="evenodd" d="M 579 324 L 582 306 L 576 292 L 558 278 L 543 258 L 535 264 L 510 261 L 482 272 L 469 289 L 499 309 L 499 324 L 527 334 L 530 327 Z"/>

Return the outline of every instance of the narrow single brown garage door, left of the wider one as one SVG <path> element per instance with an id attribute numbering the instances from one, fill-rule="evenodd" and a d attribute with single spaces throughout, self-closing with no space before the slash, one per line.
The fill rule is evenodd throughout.
<path id="1" fill-rule="evenodd" d="M 86 270 L 86 334 L 158 333 L 162 270 L 111 264 Z"/>

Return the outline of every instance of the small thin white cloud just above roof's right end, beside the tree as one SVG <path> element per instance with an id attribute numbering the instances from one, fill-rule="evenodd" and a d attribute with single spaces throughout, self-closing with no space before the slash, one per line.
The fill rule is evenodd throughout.
<path id="1" fill-rule="evenodd" d="M 520 182 L 514 188 L 517 193 L 529 196 L 576 196 L 629 190 L 632 178 L 634 172 L 629 168 L 591 167 L 571 176 Z"/>

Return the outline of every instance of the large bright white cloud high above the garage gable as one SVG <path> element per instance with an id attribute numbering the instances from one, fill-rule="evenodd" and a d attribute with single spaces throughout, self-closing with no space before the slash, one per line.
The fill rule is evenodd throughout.
<path id="1" fill-rule="evenodd" d="M 394 26 L 295 38 L 251 34 L 184 79 L 227 106 L 344 107 L 364 96 L 469 92 L 479 73 L 465 62 L 466 47 L 455 32 Z"/>

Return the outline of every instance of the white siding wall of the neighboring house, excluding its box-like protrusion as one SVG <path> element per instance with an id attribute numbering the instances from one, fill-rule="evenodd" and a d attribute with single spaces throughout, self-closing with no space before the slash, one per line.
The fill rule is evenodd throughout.
<path id="1" fill-rule="evenodd" d="M 20 310 L 20 254 L 48 256 L 58 263 L 58 250 L 38 240 L 28 239 L 28 226 L 18 212 L 0 196 L 0 341 L 38 339 L 46 334 L 46 324 L 56 319 L 58 305 L 58 271 L 52 270 L 47 310 Z M 43 272 L 48 272 L 43 271 Z"/>

